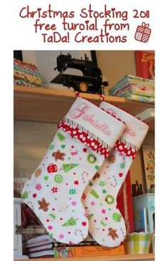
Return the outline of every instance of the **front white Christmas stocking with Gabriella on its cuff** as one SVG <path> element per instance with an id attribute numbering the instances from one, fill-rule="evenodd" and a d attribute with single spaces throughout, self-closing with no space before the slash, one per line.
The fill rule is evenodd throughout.
<path id="1" fill-rule="evenodd" d="M 88 235 L 88 218 L 80 201 L 83 191 L 125 124 L 78 97 L 58 128 L 22 198 L 52 237 L 76 244 Z"/>

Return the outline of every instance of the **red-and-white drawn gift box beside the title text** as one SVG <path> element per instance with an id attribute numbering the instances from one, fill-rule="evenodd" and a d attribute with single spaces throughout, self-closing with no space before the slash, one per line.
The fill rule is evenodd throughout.
<path id="1" fill-rule="evenodd" d="M 151 29 L 149 29 L 149 24 L 145 24 L 145 22 L 143 22 L 141 26 L 137 26 L 137 30 L 135 32 L 135 40 L 147 43 L 150 34 Z"/>

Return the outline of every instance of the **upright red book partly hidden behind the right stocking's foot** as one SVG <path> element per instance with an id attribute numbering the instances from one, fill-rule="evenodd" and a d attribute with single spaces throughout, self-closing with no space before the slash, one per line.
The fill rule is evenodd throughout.
<path id="1" fill-rule="evenodd" d="M 127 232 L 134 232 L 134 214 L 132 205 L 132 190 L 131 190 L 131 179 L 130 171 L 128 171 L 125 178 L 125 182 L 122 184 L 120 191 L 117 195 L 117 205 L 125 219 L 125 224 L 127 227 Z"/>

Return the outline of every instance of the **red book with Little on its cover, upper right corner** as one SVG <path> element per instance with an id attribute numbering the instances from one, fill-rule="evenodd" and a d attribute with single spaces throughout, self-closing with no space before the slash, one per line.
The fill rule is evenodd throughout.
<path id="1" fill-rule="evenodd" d="M 154 80 L 154 51 L 135 51 L 137 76 Z"/>

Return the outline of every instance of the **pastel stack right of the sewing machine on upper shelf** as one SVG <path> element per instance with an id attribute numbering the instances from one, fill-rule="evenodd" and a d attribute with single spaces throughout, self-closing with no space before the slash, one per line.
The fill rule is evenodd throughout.
<path id="1" fill-rule="evenodd" d="M 110 89 L 109 95 L 154 103 L 154 80 L 127 75 Z"/>

